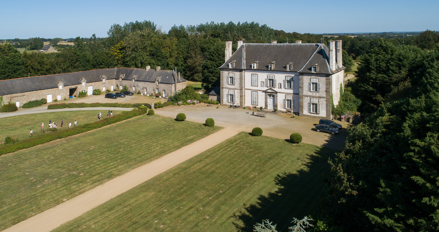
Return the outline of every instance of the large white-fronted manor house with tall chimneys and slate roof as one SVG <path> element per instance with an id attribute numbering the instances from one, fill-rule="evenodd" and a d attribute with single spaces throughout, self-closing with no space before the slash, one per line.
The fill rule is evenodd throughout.
<path id="1" fill-rule="evenodd" d="M 331 95 L 338 105 L 340 88 L 344 88 L 341 40 L 329 41 L 329 48 L 300 40 L 238 41 L 237 47 L 232 55 L 232 42 L 226 42 L 226 62 L 219 67 L 221 104 L 331 118 Z"/>

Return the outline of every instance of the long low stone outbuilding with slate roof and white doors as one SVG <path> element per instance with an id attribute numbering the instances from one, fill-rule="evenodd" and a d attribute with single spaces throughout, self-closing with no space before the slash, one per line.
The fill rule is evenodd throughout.
<path id="1" fill-rule="evenodd" d="M 186 87 L 186 80 L 175 70 L 140 68 L 113 68 L 55 74 L 37 77 L 23 77 L 0 81 L 0 95 L 4 102 L 15 102 L 20 107 L 24 103 L 46 98 L 74 98 L 79 91 L 92 95 L 94 89 L 115 91 L 127 86 L 130 91 L 143 94 L 160 94 L 168 97 Z M 103 96 L 102 96 L 103 97 Z"/>

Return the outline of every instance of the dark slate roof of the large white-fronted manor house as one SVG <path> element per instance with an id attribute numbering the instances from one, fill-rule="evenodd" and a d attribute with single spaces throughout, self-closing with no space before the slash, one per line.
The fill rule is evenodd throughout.
<path id="1" fill-rule="evenodd" d="M 246 43 L 219 68 L 228 69 L 230 62 L 233 69 L 243 70 L 252 69 L 253 62 L 258 63 L 254 70 L 268 70 L 268 64 L 274 63 L 273 71 L 287 71 L 286 64 L 292 63 L 291 72 L 300 73 L 311 73 L 311 66 L 317 64 L 317 73 L 335 73 L 329 68 L 329 49 L 319 43 Z"/>

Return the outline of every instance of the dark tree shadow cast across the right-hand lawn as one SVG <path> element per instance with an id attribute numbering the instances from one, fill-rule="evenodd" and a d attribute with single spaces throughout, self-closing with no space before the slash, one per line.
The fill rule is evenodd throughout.
<path id="1" fill-rule="evenodd" d="M 243 205 L 243 209 L 231 216 L 237 231 L 253 232 L 256 223 L 269 219 L 277 225 L 278 231 L 287 231 L 293 218 L 302 219 L 311 214 L 324 194 L 324 176 L 329 173 L 328 158 L 334 157 L 334 149 L 320 148 L 316 154 L 309 155 L 305 168 L 295 173 L 282 173 L 274 178 L 277 190 L 266 196 L 259 195 L 256 204 Z"/>

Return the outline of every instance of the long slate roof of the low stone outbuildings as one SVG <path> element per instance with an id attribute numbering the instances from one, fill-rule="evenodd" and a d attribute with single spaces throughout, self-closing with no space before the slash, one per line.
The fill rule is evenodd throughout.
<path id="1" fill-rule="evenodd" d="M 136 81 L 155 82 L 156 77 L 162 77 L 161 84 L 174 84 L 173 70 L 155 69 L 146 71 L 140 68 L 108 68 L 75 73 L 54 74 L 36 77 L 22 77 L 0 81 L 0 95 L 24 93 L 43 89 L 57 88 L 58 81 L 62 81 L 64 86 L 81 84 L 81 79 L 85 78 L 87 83 L 101 81 L 101 75 L 105 75 L 107 80 L 119 80 L 120 74 L 125 74 L 123 80 L 132 80 L 133 75 L 137 75 Z M 178 76 L 178 75 L 176 75 Z M 186 81 L 183 77 L 177 77 L 177 83 Z"/>

